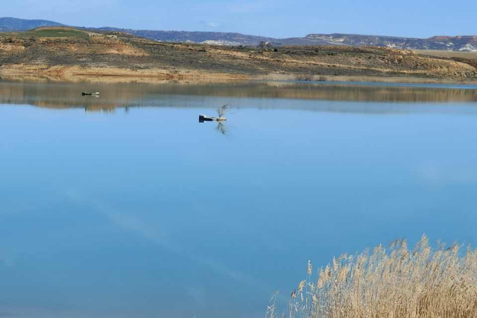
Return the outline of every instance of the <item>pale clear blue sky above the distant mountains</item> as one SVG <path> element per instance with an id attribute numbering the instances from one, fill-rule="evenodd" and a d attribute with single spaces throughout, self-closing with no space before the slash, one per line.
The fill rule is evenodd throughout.
<path id="1" fill-rule="evenodd" d="M 2 1 L 4 2 L 4 1 Z M 271 37 L 358 33 L 410 37 L 477 34 L 477 1 L 442 0 L 16 0 L 0 16 L 79 26 L 240 32 Z"/>

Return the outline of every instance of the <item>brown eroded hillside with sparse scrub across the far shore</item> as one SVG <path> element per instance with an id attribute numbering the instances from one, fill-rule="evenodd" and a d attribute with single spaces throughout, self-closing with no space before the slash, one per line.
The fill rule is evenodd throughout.
<path id="1" fill-rule="evenodd" d="M 463 61 L 377 47 L 161 43 L 54 27 L 0 34 L 2 76 L 476 81 L 474 60 Z"/>

